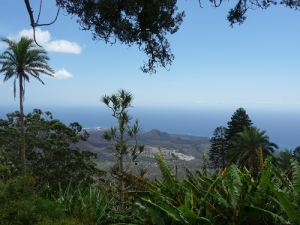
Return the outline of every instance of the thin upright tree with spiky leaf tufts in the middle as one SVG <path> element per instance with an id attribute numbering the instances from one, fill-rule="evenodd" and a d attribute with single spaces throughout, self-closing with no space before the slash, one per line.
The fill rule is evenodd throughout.
<path id="1" fill-rule="evenodd" d="M 117 199 L 111 208 L 113 213 L 130 215 L 132 207 L 123 192 L 132 189 L 132 184 L 127 182 L 126 174 L 131 173 L 132 165 L 137 164 L 137 157 L 144 151 L 144 145 L 137 144 L 137 134 L 141 130 L 139 121 L 136 120 L 131 127 L 132 117 L 128 115 L 128 108 L 132 107 L 133 95 L 123 89 L 111 96 L 104 95 L 101 101 L 113 111 L 112 116 L 118 120 L 118 127 L 105 131 L 102 137 L 111 143 L 112 154 L 117 158 L 117 163 L 111 169 L 113 182 L 112 195 Z M 128 141 L 134 140 L 130 145 Z"/>

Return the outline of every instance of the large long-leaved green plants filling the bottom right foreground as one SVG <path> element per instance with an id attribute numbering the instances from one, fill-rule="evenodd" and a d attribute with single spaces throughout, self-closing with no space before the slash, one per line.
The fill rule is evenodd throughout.
<path id="1" fill-rule="evenodd" d="M 255 180 L 253 169 L 241 171 L 232 164 L 212 178 L 196 176 L 185 167 L 188 180 L 181 184 L 161 152 L 156 160 L 163 180 L 156 181 L 156 189 L 148 189 L 148 196 L 137 193 L 134 203 L 146 224 L 275 225 L 299 221 L 300 167 L 296 161 L 292 162 L 294 184 L 276 169 L 270 156 Z"/>

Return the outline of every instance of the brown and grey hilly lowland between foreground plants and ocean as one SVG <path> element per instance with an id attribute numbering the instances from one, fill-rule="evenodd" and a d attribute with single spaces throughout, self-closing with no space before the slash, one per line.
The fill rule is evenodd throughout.
<path id="1" fill-rule="evenodd" d="M 79 142 L 76 146 L 81 150 L 90 150 L 97 153 L 96 162 L 100 168 L 109 170 L 115 163 L 116 158 L 111 154 L 110 143 L 101 136 L 107 128 L 89 129 L 90 137 L 87 141 Z M 127 138 L 127 137 L 126 137 Z M 178 176 L 184 176 L 182 165 L 187 165 L 191 170 L 202 166 L 202 149 L 208 151 L 210 140 L 208 137 L 197 137 L 184 134 L 169 134 L 153 129 L 149 132 L 140 132 L 138 143 L 145 144 L 145 151 L 139 156 L 139 163 L 134 167 L 134 171 L 141 168 L 148 168 L 148 176 L 160 176 L 154 155 L 160 146 L 165 154 L 166 160 L 171 168 L 177 165 Z M 130 141 L 129 144 L 134 144 Z M 171 153 L 178 156 L 179 160 L 174 160 Z M 133 171 L 133 173 L 134 173 Z"/>

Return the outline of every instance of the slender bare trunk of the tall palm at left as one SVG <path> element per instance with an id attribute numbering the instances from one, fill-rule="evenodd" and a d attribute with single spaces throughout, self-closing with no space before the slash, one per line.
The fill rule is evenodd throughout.
<path id="1" fill-rule="evenodd" d="M 25 132 L 24 132 L 24 113 L 23 113 L 23 85 L 22 76 L 19 75 L 20 85 L 20 113 L 21 113 L 21 160 L 22 160 L 22 176 L 26 176 L 26 156 L 25 156 Z"/>

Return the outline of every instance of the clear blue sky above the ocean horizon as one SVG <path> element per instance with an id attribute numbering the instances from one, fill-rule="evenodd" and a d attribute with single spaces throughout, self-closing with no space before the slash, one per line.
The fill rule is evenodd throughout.
<path id="1" fill-rule="evenodd" d="M 209 1 L 202 1 L 204 8 L 197 0 L 178 1 L 186 17 L 168 36 L 175 60 L 170 71 L 153 75 L 139 69 L 147 57 L 136 46 L 95 42 L 76 17 L 61 12 L 37 32 L 57 78 L 42 76 L 45 86 L 31 79 L 24 107 L 99 105 L 102 95 L 124 88 L 136 107 L 300 111 L 300 13 L 280 5 L 249 10 L 245 23 L 231 28 L 226 16 L 235 3 L 215 9 Z M 36 18 L 39 1 L 31 4 Z M 44 1 L 40 22 L 52 21 L 56 10 L 54 0 Z M 32 33 L 24 1 L 1 0 L 0 21 L 1 37 Z M 0 84 L 0 107 L 19 107 L 12 87 L 13 80 Z"/>

